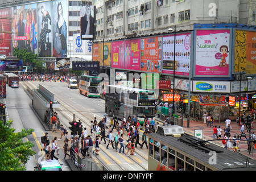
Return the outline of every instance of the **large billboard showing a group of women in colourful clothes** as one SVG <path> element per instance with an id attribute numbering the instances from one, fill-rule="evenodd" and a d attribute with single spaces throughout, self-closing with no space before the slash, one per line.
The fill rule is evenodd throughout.
<path id="1" fill-rule="evenodd" d="M 11 7 L 13 14 L 13 47 L 27 49 L 28 52 L 38 53 L 37 38 L 37 9 L 36 3 Z"/>

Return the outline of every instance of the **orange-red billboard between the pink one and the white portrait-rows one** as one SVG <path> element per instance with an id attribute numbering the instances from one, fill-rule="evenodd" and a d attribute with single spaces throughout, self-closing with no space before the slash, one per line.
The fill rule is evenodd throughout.
<path id="1" fill-rule="evenodd" d="M 162 37 L 141 39 L 141 71 L 162 73 Z"/>

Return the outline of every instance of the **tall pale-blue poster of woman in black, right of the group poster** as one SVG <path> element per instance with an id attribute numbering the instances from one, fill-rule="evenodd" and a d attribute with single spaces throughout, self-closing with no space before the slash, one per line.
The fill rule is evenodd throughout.
<path id="1" fill-rule="evenodd" d="M 38 51 L 39 57 L 52 56 L 51 1 L 38 3 Z"/>

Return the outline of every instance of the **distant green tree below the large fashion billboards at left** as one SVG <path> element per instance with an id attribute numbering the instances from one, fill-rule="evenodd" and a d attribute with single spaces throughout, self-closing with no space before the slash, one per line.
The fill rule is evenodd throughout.
<path id="1" fill-rule="evenodd" d="M 24 66 L 33 67 L 33 69 L 42 72 L 43 67 L 42 61 L 38 59 L 38 55 L 34 55 L 31 52 L 27 52 L 26 49 L 14 49 L 14 56 L 17 56 L 18 59 L 23 60 Z"/>

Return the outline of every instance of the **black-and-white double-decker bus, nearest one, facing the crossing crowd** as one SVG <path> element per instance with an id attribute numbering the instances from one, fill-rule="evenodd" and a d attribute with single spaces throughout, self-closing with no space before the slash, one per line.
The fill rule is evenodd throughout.
<path id="1" fill-rule="evenodd" d="M 155 117 L 155 92 L 122 85 L 108 85 L 105 113 L 114 118 Z"/>

